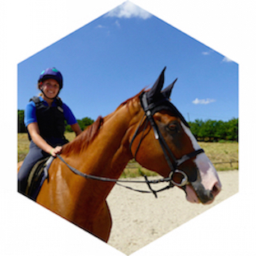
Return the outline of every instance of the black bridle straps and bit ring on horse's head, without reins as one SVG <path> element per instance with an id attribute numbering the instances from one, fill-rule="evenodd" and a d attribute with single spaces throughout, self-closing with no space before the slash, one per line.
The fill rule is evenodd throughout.
<path id="1" fill-rule="evenodd" d="M 173 110 L 173 111 L 175 111 L 175 114 L 177 114 L 179 116 L 179 118 L 183 121 L 183 123 L 187 127 L 189 127 L 189 124 L 185 121 L 183 115 L 179 113 L 179 110 L 175 108 L 175 105 L 170 103 L 170 101 L 167 100 L 167 99 L 162 99 L 162 100 L 157 101 L 156 103 L 154 102 L 154 103 L 151 103 L 150 105 L 148 105 L 148 103 L 147 103 L 147 93 L 143 92 L 142 95 L 140 95 L 140 100 L 141 100 L 142 109 L 144 110 L 145 115 L 146 115 L 147 123 L 148 122 L 151 123 L 151 127 L 153 128 L 156 140 L 158 140 L 158 142 L 160 143 L 161 149 L 162 149 L 162 151 L 164 152 L 164 155 L 165 155 L 165 161 L 167 162 L 167 164 L 170 168 L 170 175 L 169 175 L 170 182 L 172 184 L 176 185 L 176 186 L 184 187 L 186 184 L 189 183 L 189 178 L 188 178 L 188 175 L 186 175 L 183 170 L 178 169 L 179 165 L 182 165 L 185 161 L 188 161 L 189 159 L 191 159 L 191 158 L 197 156 L 198 154 L 202 153 L 203 149 L 200 148 L 196 151 L 193 151 L 193 152 L 191 152 L 187 155 L 182 156 L 179 160 L 177 160 L 175 158 L 173 152 L 170 150 L 170 147 L 168 147 L 167 143 L 165 142 L 165 138 L 161 134 L 161 132 L 160 132 L 160 130 L 159 130 L 157 124 L 156 124 L 155 119 L 153 119 L 153 114 L 155 114 L 156 112 L 159 112 L 161 109 Z M 142 117 L 142 119 L 144 119 L 144 116 Z M 145 129 L 147 127 L 147 123 L 146 123 L 146 125 L 143 129 L 142 137 L 143 137 L 143 133 L 145 132 Z M 135 137 L 137 137 L 137 133 L 139 131 L 139 128 L 141 127 L 141 124 L 142 124 L 142 120 L 139 123 L 139 125 L 137 127 L 137 130 L 135 131 L 135 133 L 133 135 L 133 138 L 130 142 L 130 146 L 129 146 L 130 151 L 131 151 L 131 148 L 132 148 L 133 141 L 134 141 Z M 142 137 L 141 137 L 141 140 L 140 140 L 140 142 L 137 146 L 135 154 L 133 156 L 134 159 L 136 159 L 137 151 L 138 151 L 138 149 L 141 145 L 141 142 L 142 142 Z M 132 155 L 133 155 L 133 153 L 132 153 Z M 180 183 L 176 183 L 175 180 L 173 179 L 174 175 L 177 174 L 177 173 L 179 173 L 179 175 L 183 176 L 183 179 L 181 180 Z"/>

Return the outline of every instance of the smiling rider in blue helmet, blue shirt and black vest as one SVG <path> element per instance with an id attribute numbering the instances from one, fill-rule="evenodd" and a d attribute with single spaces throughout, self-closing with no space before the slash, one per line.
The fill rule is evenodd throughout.
<path id="1" fill-rule="evenodd" d="M 30 151 L 18 173 L 18 191 L 26 192 L 30 170 L 37 161 L 47 157 L 56 157 L 67 143 L 64 137 L 65 120 L 72 130 L 79 135 L 81 128 L 71 109 L 59 99 L 58 93 L 63 88 L 63 76 L 55 67 L 46 68 L 40 74 L 39 97 L 30 99 L 26 105 L 25 124 L 30 137 Z"/>

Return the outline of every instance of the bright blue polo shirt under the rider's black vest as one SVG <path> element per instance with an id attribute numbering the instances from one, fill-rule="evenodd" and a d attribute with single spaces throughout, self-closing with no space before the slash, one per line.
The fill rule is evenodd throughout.
<path id="1" fill-rule="evenodd" d="M 48 103 L 41 96 L 39 98 L 40 98 L 40 101 L 43 101 L 44 105 L 48 106 Z M 54 102 L 52 103 L 52 106 L 53 107 L 57 106 L 56 100 L 54 100 Z M 62 108 L 63 108 L 64 118 L 66 119 L 67 124 L 72 125 L 77 123 L 77 119 L 72 114 L 71 109 L 69 109 L 68 106 L 64 103 Z M 38 123 L 35 115 L 35 102 L 33 100 L 31 100 L 30 103 L 26 105 L 24 123 L 26 127 L 30 123 Z"/>

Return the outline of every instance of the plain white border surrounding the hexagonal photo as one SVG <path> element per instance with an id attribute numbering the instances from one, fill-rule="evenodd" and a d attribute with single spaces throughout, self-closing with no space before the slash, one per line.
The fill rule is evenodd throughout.
<path id="1" fill-rule="evenodd" d="M 16 193 L 16 65 L 123 1 L 5 1 L 0 7 L 2 255 L 123 255 Z M 255 253 L 255 5 L 252 0 L 134 0 L 163 21 L 240 64 L 240 193 L 133 255 Z M 40 14 L 41 13 L 41 14 Z M 10 104 L 12 102 L 12 104 Z M 244 107 L 245 106 L 245 107 Z M 10 109 L 11 114 L 7 109 Z M 252 117 L 252 116 L 251 116 Z M 15 123 L 16 124 L 16 123 Z M 249 143 L 247 143 L 249 142 Z M 243 151 L 246 149 L 246 151 Z M 7 158 L 8 157 L 8 158 Z M 11 160 L 10 160 L 11 159 Z M 245 161 L 248 159 L 248 161 Z M 7 164 L 7 161 L 11 164 Z M 10 181 L 11 180 L 11 181 Z M 7 181 L 7 182 L 6 182 Z M 171 213 L 170 213 L 171 214 Z M 36 216 L 36 217 L 35 217 Z M 209 222 L 211 220 L 211 222 Z M 202 225 L 203 223 L 203 225 Z M 44 230 L 41 232 L 40 230 Z M 64 232 L 65 230 L 65 232 Z M 29 242 L 30 241 L 30 242 Z"/>

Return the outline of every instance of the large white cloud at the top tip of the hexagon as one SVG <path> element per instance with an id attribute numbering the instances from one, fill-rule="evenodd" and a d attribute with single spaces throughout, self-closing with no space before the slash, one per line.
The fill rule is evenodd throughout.
<path id="1" fill-rule="evenodd" d="M 146 12 L 140 7 L 137 7 L 132 2 L 123 2 L 119 7 L 114 8 L 114 10 L 108 12 L 106 16 L 119 17 L 119 18 L 132 18 L 138 17 L 146 20 L 151 17 L 149 12 Z"/>

